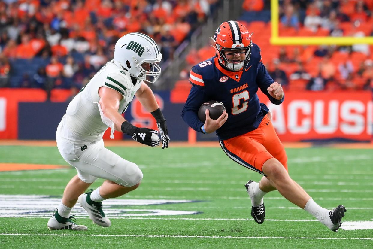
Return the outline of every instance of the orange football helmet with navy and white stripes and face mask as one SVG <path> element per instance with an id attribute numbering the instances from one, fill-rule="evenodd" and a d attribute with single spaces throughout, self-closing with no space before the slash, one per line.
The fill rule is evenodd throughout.
<path id="1" fill-rule="evenodd" d="M 212 39 L 212 37 L 211 37 Z M 242 71 L 250 60 L 250 49 L 253 46 L 251 34 L 247 28 L 237 21 L 226 21 L 220 24 L 216 29 L 213 38 L 215 42 L 216 56 L 219 62 L 229 71 Z M 225 51 L 246 51 L 245 59 L 240 61 L 233 61 L 226 58 Z"/>

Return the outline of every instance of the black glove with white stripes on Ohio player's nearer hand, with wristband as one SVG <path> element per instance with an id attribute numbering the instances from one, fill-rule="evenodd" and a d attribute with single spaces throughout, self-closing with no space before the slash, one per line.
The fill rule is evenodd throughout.
<path id="1" fill-rule="evenodd" d="M 121 129 L 123 133 L 132 136 L 132 139 L 139 143 L 151 147 L 156 147 L 159 145 L 160 139 L 157 135 L 158 131 L 156 130 L 139 128 L 130 124 L 128 121 L 123 122 Z"/>

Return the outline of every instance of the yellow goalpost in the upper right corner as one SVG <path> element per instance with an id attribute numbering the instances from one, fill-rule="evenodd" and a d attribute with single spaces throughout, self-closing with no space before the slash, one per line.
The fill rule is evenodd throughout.
<path id="1" fill-rule="evenodd" d="M 273 45 L 352 45 L 373 44 L 373 37 L 285 37 L 279 36 L 279 0 L 271 0 L 271 38 Z"/>

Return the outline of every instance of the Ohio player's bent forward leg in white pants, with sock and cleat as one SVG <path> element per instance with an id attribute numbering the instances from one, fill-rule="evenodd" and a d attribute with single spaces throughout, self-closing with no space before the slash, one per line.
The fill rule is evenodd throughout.
<path id="1" fill-rule="evenodd" d="M 106 179 L 97 189 L 81 194 L 78 202 L 94 223 L 109 227 L 111 222 L 102 210 L 102 201 L 136 189 L 142 180 L 140 168 L 106 149 L 102 140 L 88 144 L 74 166 L 94 177 Z"/>

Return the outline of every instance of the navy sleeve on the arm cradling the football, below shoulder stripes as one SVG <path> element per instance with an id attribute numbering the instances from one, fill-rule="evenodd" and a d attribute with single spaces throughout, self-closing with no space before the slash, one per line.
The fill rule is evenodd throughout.
<path id="1" fill-rule="evenodd" d="M 200 106 L 206 101 L 207 96 L 204 93 L 204 90 L 193 85 L 182 110 L 181 116 L 184 121 L 189 125 L 189 127 L 198 132 L 201 132 L 201 127 L 204 124 L 198 118 L 198 109 L 200 109 Z"/>

